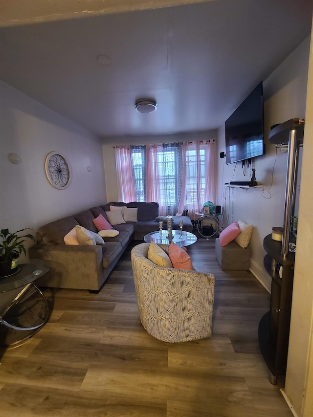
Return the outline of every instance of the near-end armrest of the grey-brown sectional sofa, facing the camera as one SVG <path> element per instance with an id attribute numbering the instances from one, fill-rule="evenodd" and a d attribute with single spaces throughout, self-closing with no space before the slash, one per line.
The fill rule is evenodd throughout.
<path id="1" fill-rule="evenodd" d="M 38 285 L 98 290 L 104 283 L 100 245 L 36 245 L 29 257 L 43 259 L 50 268 Z"/>

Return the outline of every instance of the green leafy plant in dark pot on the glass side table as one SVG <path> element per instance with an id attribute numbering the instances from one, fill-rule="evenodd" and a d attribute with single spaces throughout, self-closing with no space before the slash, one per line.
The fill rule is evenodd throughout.
<path id="1" fill-rule="evenodd" d="M 35 238 L 31 234 L 19 236 L 18 233 L 24 230 L 31 229 L 22 229 L 18 230 L 15 233 L 10 233 L 9 229 L 2 229 L 0 231 L 0 276 L 5 277 L 8 275 L 13 275 L 17 267 L 17 259 L 20 254 L 23 252 L 26 255 L 26 249 L 24 246 L 24 238 L 31 239 L 35 241 Z"/>

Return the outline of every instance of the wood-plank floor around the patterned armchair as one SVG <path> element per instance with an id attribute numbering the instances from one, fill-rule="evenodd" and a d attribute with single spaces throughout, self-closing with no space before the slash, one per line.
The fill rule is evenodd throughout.
<path id="1" fill-rule="evenodd" d="M 259 351 L 269 295 L 254 276 L 221 271 L 214 240 L 188 247 L 216 277 L 213 335 L 165 343 L 140 324 L 130 250 L 99 294 L 45 291 L 48 323 L 2 351 L 0 416 L 292 417 Z"/>

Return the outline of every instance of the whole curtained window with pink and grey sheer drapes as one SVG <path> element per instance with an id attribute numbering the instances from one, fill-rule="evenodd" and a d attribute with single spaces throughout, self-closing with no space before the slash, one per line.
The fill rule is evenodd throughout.
<path id="1" fill-rule="evenodd" d="M 216 201 L 215 141 L 115 148 L 121 201 L 157 201 L 160 215 L 192 220 L 205 201 Z"/>

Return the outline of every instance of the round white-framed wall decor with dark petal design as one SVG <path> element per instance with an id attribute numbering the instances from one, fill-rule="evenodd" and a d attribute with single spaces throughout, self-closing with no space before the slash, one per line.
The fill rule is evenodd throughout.
<path id="1" fill-rule="evenodd" d="M 64 190 L 70 180 L 70 170 L 66 158 L 57 152 L 50 152 L 45 158 L 45 175 L 53 187 Z"/>

